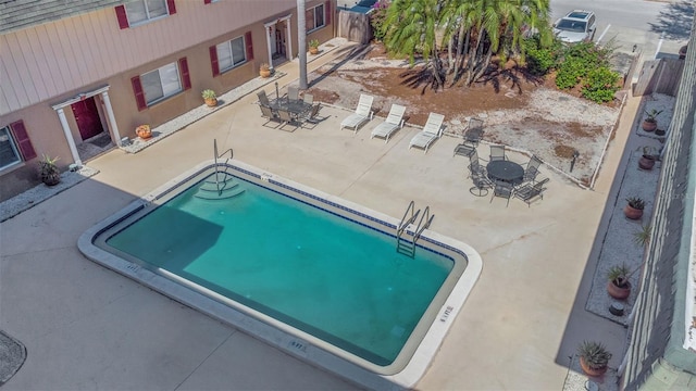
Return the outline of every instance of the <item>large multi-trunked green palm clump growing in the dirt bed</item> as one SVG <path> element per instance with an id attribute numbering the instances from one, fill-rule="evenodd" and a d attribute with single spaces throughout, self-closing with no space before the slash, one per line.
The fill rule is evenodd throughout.
<path id="1" fill-rule="evenodd" d="M 525 28 L 538 30 L 548 43 L 548 12 L 549 0 L 395 0 L 387 10 L 385 45 L 411 61 L 422 52 L 426 61 L 431 59 L 436 84 L 443 85 L 438 48 L 447 42 L 452 83 L 465 76 L 465 85 L 471 85 L 487 70 L 493 55 L 504 60 L 524 56 Z M 440 42 L 435 39 L 437 34 L 443 35 Z"/>

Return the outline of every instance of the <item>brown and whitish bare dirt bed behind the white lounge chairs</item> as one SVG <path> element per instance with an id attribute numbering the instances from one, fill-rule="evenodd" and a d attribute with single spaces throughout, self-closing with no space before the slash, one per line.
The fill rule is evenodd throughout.
<path id="1" fill-rule="evenodd" d="M 382 117 L 391 103 L 403 104 L 407 125 L 422 126 L 430 112 L 444 114 L 445 133 L 450 136 L 461 135 L 470 117 L 482 118 L 485 141 L 536 154 L 584 185 L 598 169 L 619 118 L 618 100 L 596 104 L 577 91 L 558 91 L 551 78 L 525 77 L 514 67 L 469 88 L 447 86 L 439 91 L 422 83 L 414 70 L 408 61 L 389 60 L 381 46 L 371 45 L 310 74 L 308 92 L 348 110 L 355 109 L 361 92 L 372 94 L 375 115 Z"/>

